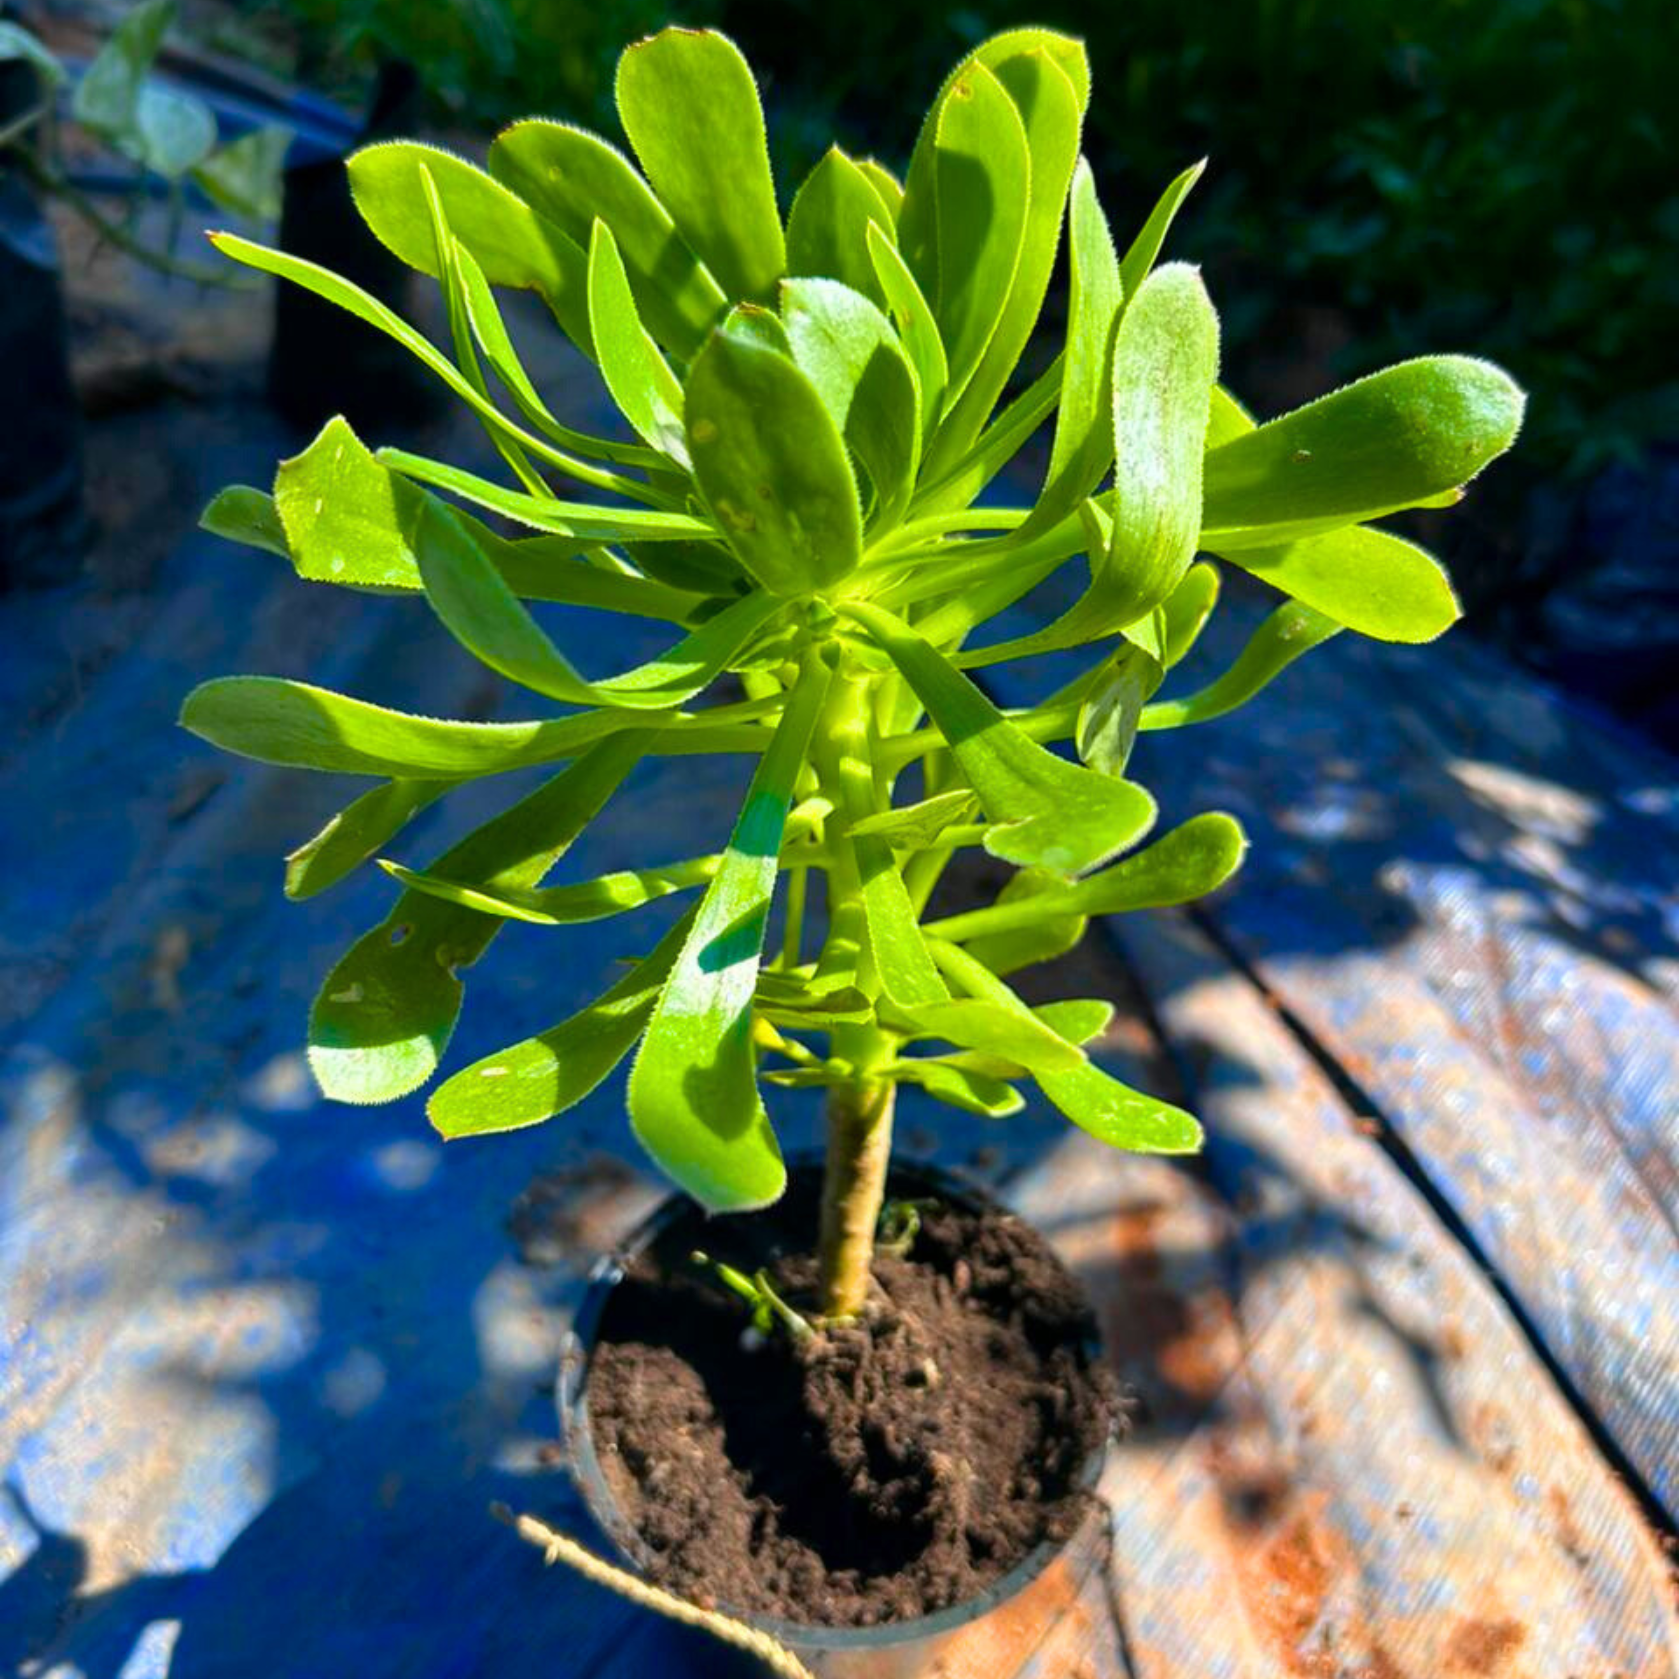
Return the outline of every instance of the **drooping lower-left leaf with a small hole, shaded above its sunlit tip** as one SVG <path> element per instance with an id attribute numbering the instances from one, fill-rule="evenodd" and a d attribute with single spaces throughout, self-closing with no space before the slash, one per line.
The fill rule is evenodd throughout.
<path id="1" fill-rule="evenodd" d="M 489 887 L 534 887 L 636 766 L 650 734 L 608 740 L 443 853 L 433 870 Z M 337 1101 L 393 1101 L 437 1070 L 460 1014 L 460 970 L 504 922 L 405 892 L 321 986 L 309 1064 Z"/>

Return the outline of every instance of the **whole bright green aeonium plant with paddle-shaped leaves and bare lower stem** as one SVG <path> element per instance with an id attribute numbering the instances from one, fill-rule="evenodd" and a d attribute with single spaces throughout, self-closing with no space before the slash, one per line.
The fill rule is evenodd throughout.
<path id="1" fill-rule="evenodd" d="M 641 1145 L 705 1207 L 742 1211 L 786 1182 L 764 1086 L 821 1086 L 816 1310 L 840 1320 L 865 1301 L 902 1085 L 1007 1115 L 1031 1083 L 1117 1148 L 1197 1147 L 1190 1115 L 1081 1048 L 1108 1002 L 1033 1007 L 1009 975 L 1066 952 L 1093 915 L 1229 878 L 1244 840 L 1226 814 L 1150 840 L 1155 801 L 1127 777 L 1135 737 L 1229 712 L 1345 630 L 1446 630 L 1457 606 L 1441 568 L 1372 520 L 1456 500 L 1511 443 L 1523 400 L 1498 368 L 1436 356 L 1256 423 L 1217 383 L 1200 275 L 1157 265 L 1199 166 L 1122 255 L 1080 156 L 1090 76 L 1064 35 L 987 40 L 940 91 L 902 183 L 834 148 L 786 220 L 727 39 L 643 40 L 616 91 L 635 163 L 549 121 L 509 128 L 487 170 L 408 143 L 351 160 L 368 225 L 438 280 L 447 349 L 324 269 L 215 237 L 411 349 L 484 421 L 509 482 L 369 450 L 334 420 L 280 465 L 272 497 L 223 492 L 210 529 L 311 581 L 423 593 L 462 646 L 559 712 L 448 722 L 230 677 L 198 688 L 183 722 L 267 762 L 376 779 L 289 860 L 294 897 L 374 858 L 465 781 L 564 766 L 428 866 L 383 865 L 401 892 L 321 989 L 314 1075 L 343 1101 L 408 1095 L 509 920 L 623 915 L 636 954 L 623 977 L 447 1078 L 432 1123 L 445 1137 L 536 1125 L 633 1054 Z M 1004 401 L 1063 247 L 1064 343 Z M 635 442 L 549 411 L 497 304 L 505 287 L 547 304 Z M 986 497 L 1051 423 L 1036 495 L 1014 475 Z M 1076 603 L 1026 621 L 1016 603 L 1070 564 L 1088 573 Z M 1222 564 L 1281 601 L 1217 680 L 1157 697 Z M 673 640 L 588 677 L 527 601 L 591 608 L 603 645 L 613 615 L 667 621 Z M 1068 650 L 1083 670 L 1038 704 L 987 695 L 987 670 Z M 725 678 L 732 697 L 702 704 Z M 719 850 L 544 885 L 641 759 L 702 754 L 754 762 Z M 970 848 L 1017 873 L 989 907 L 928 920 Z M 633 912 L 673 893 L 693 902 L 648 950 Z"/>

